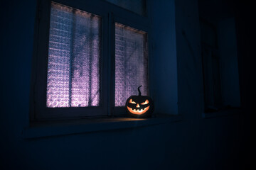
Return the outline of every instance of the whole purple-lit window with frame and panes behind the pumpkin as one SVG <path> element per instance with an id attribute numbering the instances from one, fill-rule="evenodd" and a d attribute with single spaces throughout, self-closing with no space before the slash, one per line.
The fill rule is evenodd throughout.
<path id="1" fill-rule="evenodd" d="M 122 115 L 138 86 L 149 95 L 149 23 L 107 1 L 41 1 L 31 119 Z"/>

